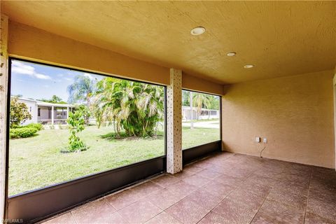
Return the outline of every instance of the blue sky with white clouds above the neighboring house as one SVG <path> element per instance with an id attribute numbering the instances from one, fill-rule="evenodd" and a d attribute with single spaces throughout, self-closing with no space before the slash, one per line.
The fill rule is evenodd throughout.
<path id="1" fill-rule="evenodd" d="M 87 76 L 102 80 L 104 76 L 61 69 L 54 66 L 12 60 L 10 94 L 21 94 L 24 98 L 51 99 L 52 95 L 67 102 L 69 94 L 67 87 L 73 83 L 76 76 Z"/>

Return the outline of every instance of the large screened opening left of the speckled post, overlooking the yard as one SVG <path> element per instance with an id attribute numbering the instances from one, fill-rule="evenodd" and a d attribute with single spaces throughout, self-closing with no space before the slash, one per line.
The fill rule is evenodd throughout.
<path id="1" fill-rule="evenodd" d="M 165 87 L 11 62 L 11 95 L 57 104 L 57 109 L 38 109 L 44 128 L 31 137 L 11 135 L 8 195 L 165 155 Z M 69 124 L 62 118 L 68 107 Z M 27 116 L 25 110 L 22 106 L 18 113 Z M 69 140 L 71 128 L 78 130 L 76 142 Z"/>

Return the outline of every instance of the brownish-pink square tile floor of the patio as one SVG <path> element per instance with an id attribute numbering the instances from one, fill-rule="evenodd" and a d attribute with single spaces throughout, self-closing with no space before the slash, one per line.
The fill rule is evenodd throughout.
<path id="1" fill-rule="evenodd" d="M 47 223 L 336 223 L 336 172 L 218 153 Z"/>

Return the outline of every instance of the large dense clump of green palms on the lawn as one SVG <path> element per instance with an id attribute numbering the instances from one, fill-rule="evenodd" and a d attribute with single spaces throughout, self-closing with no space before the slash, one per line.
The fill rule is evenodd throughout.
<path id="1" fill-rule="evenodd" d="M 148 137 L 163 118 L 163 88 L 116 78 L 104 78 L 97 84 L 94 96 L 96 119 L 99 126 L 113 124 L 120 136 Z"/>

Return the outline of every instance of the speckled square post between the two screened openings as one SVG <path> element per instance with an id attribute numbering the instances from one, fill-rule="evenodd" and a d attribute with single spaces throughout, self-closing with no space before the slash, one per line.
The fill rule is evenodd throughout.
<path id="1" fill-rule="evenodd" d="M 167 172 L 182 170 L 182 71 L 170 69 L 167 87 Z"/>

